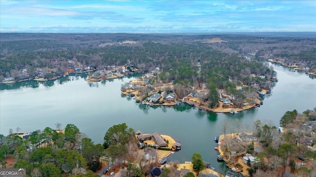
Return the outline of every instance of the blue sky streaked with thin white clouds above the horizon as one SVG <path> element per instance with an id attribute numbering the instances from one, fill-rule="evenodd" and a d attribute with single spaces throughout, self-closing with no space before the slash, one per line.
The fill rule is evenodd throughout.
<path id="1" fill-rule="evenodd" d="M 0 0 L 0 32 L 316 31 L 316 0 Z"/>

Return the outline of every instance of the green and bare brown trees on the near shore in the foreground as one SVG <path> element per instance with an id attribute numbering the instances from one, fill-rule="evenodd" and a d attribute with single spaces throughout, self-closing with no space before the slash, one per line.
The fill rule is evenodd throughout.
<path id="1" fill-rule="evenodd" d="M 282 171 L 299 177 L 315 177 L 316 152 L 308 148 L 313 147 L 316 141 L 315 120 L 316 109 L 303 113 L 293 110 L 280 118 L 284 128 L 282 133 L 271 122 L 264 120 L 255 120 L 252 126 L 242 125 L 237 120 L 224 121 L 221 130 L 225 136 L 252 129 L 258 137 L 257 143 L 262 150 L 258 151 L 258 145 L 255 148 L 253 143 L 246 143 L 246 152 L 255 155 L 257 161 L 250 166 L 249 177 L 271 177 Z M 56 129 L 46 127 L 23 138 L 19 136 L 22 135 L 19 127 L 16 133 L 9 129 L 8 136 L 0 135 L 1 168 L 6 168 L 6 160 L 10 157 L 15 159 L 13 168 L 25 168 L 30 177 L 95 177 L 94 172 L 101 168 L 102 163 L 110 163 L 112 167 L 124 170 L 129 177 L 144 177 L 152 165 L 158 164 L 158 161 L 146 160 L 142 147 L 138 146 L 135 131 L 126 123 L 110 127 L 105 133 L 103 145 L 94 144 L 74 124 L 67 124 L 65 128 L 60 123 L 55 125 Z M 306 144 L 305 139 L 311 144 Z M 225 146 L 230 145 L 226 143 Z M 242 158 L 243 155 L 232 158 Z M 197 174 L 204 169 L 200 154 L 194 153 L 192 161 Z M 174 162 L 161 175 L 176 177 L 174 172 L 178 163 Z"/>

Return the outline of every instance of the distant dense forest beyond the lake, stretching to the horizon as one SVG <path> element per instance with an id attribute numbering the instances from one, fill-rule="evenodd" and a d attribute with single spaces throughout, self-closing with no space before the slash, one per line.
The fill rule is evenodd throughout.
<path id="1" fill-rule="evenodd" d="M 220 40 L 212 42 L 214 38 Z M 1 33 L 0 80 L 22 74 L 33 79 L 38 68 L 54 69 L 54 75 L 62 75 L 68 61 L 73 60 L 97 69 L 126 63 L 141 70 L 173 69 L 167 80 L 183 77 L 191 80 L 197 76 L 194 65 L 200 61 L 204 78 L 216 75 L 214 77 L 241 81 L 249 74 L 267 73 L 267 67 L 256 58 L 266 54 L 315 70 L 315 46 L 315 37 L 258 34 Z M 244 58 L 248 54 L 254 54 L 250 61 Z M 181 78 L 176 72 L 180 72 Z"/>

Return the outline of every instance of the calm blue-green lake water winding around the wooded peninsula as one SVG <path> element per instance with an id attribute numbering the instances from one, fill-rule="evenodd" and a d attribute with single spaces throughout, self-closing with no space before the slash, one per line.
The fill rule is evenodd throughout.
<path id="1" fill-rule="evenodd" d="M 236 115 L 200 111 L 195 107 L 149 107 L 135 103 L 121 95 L 120 86 L 134 77 L 89 84 L 86 75 L 68 76 L 60 80 L 38 83 L 36 81 L 1 85 L 0 134 L 7 135 L 10 128 L 16 132 L 32 132 L 45 127 L 56 128 L 75 124 L 95 143 L 103 143 L 108 128 L 126 124 L 144 133 L 172 136 L 180 141 L 182 149 L 169 156 L 170 160 L 191 161 L 198 152 L 204 161 L 224 173 L 225 163 L 217 162 L 218 152 L 214 137 L 223 134 L 223 121 L 235 125 L 240 131 L 252 131 L 252 122 L 260 119 L 279 126 L 279 119 L 286 111 L 296 109 L 302 113 L 316 107 L 316 79 L 304 72 L 273 65 L 278 83 L 267 95 L 260 108 L 253 108 Z M 238 126 L 239 125 L 239 126 Z"/>

